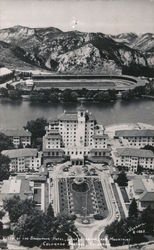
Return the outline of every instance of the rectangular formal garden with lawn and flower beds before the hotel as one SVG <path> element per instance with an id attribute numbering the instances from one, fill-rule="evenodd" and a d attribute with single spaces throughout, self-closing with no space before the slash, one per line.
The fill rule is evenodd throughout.
<path id="1" fill-rule="evenodd" d="M 60 178 L 58 187 L 60 213 L 75 214 L 78 218 L 107 217 L 108 208 L 98 177 Z"/>

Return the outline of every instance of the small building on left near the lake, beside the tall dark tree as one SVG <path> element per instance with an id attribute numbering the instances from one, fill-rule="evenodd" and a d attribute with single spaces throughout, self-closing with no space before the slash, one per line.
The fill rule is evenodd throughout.
<path id="1" fill-rule="evenodd" d="M 25 148 L 27 145 L 31 145 L 31 133 L 24 129 L 3 129 L 0 133 L 7 135 L 15 148 L 18 148 L 20 144 Z"/>

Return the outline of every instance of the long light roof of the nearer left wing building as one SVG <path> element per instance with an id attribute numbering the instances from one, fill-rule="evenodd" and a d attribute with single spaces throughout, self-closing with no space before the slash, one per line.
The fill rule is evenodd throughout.
<path id="1" fill-rule="evenodd" d="M 3 150 L 1 153 L 5 156 L 8 156 L 9 158 L 18 158 L 26 156 L 36 157 L 37 149 L 35 148 L 11 149 L 11 150 Z"/>

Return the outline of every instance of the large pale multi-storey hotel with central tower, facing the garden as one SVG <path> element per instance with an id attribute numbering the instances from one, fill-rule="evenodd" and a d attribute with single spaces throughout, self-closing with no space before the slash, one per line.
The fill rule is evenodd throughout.
<path id="1" fill-rule="evenodd" d="M 76 165 L 83 164 L 85 157 L 110 157 L 108 135 L 97 124 L 94 115 L 80 106 L 77 111 L 64 111 L 49 120 L 43 137 L 43 156 L 69 157 Z"/>

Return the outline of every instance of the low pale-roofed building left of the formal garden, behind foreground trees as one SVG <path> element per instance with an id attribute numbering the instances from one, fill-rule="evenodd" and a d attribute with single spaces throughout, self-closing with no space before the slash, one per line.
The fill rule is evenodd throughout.
<path id="1" fill-rule="evenodd" d="M 21 200 L 33 199 L 36 208 L 45 212 L 49 205 L 47 178 L 43 174 L 11 176 L 0 187 L 0 209 L 3 200 L 19 196 Z"/>

